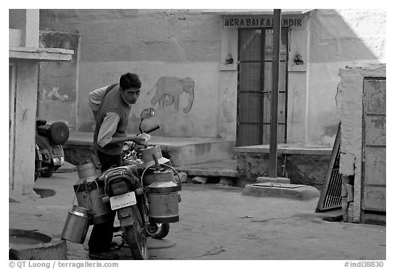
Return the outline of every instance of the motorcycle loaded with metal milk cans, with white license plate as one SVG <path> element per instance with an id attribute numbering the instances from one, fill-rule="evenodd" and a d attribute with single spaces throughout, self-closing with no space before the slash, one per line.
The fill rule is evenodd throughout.
<path id="1" fill-rule="evenodd" d="M 143 110 L 140 130 L 143 120 L 154 116 L 154 113 L 152 108 Z M 141 136 L 148 139 L 147 133 L 156 129 L 159 126 L 141 131 Z M 130 153 L 133 156 L 125 155 Z M 119 248 L 127 243 L 134 259 L 147 259 L 147 236 L 163 238 L 169 233 L 169 223 L 179 221 L 180 177 L 177 184 L 174 175 L 178 174 L 165 164 L 169 160 L 161 155 L 159 146 L 139 149 L 136 145 L 125 143 L 123 155 L 123 166 L 109 168 L 99 177 L 80 177 L 80 181 L 73 186 L 80 207 L 80 212 L 75 215 L 85 214 L 89 224 L 95 225 L 110 221 L 111 212 L 116 211 L 119 226 L 114 227 L 113 231 L 122 239 Z M 69 214 L 70 218 L 77 218 L 72 212 Z M 81 244 L 84 238 L 80 235 L 75 238 L 75 223 L 67 220 L 62 238 Z M 87 231 L 85 224 L 77 230 Z"/>

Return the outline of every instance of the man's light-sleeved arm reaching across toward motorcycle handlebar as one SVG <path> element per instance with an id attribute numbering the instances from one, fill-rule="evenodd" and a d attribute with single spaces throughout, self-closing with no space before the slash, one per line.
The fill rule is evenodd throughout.
<path id="1" fill-rule="evenodd" d="M 125 141 L 133 141 L 136 144 L 145 145 L 145 139 L 137 136 L 125 136 L 123 138 L 113 138 L 114 134 L 117 132 L 117 126 L 119 123 L 119 114 L 115 112 L 108 112 L 104 116 L 103 123 L 99 133 L 97 135 L 97 144 L 104 147 L 106 144 L 117 144 Z"/>

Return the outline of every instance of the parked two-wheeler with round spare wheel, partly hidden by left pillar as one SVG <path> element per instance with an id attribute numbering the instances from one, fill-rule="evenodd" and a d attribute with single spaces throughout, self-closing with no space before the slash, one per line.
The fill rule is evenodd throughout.
<path id="1" fill-rule="evenodd" d="M 46 120 L 36 118 L 34 181 L 39 175 L 51 177 L 64 164 L 62 144 L 67 142 L 69 134 L 69 127 L 62 121 L 47 125 Z"/>

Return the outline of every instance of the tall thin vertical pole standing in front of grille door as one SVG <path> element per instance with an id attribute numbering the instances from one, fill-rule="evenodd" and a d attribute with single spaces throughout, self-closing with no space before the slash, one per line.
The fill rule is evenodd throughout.
<path id="1" fill-rule="evenodd" d="M 277 177 L 278 73 L 280 72 L 281 10 L 274 10 L 273 81 L 270 116 L 269 177 Z"/>

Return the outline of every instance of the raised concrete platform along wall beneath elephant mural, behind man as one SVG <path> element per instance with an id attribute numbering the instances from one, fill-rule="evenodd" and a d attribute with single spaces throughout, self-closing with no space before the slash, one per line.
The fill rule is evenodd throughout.
<path id="1" fill-rule="evenodd" d="M 165 138 L 152 136 L 149 144 L 158 144 L 163 157 L 171 159 L 173 166 L 203 164 L 233 159 L 234 140 L 217 138 Z M 69 162 L 77 162 L 70 155 L 77 155 L 77 151 L 86 151 L 82 159 L 90 157 L 93 148 L 93 133 L 71 132 L 69 140 L 64 144 L 64 151 Z M 72 153 L 68 153 L 72 152 Z"/>

